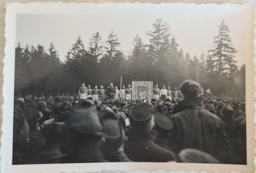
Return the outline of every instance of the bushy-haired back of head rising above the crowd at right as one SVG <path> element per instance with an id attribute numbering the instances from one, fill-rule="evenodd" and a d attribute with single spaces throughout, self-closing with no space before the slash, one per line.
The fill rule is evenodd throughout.
<path id="1" fill-rule="evenodd" d="M 180 86 L 184 98 L 195 98 L 200 96 L 200 85 L 193 80 L 185 80 Z"/>

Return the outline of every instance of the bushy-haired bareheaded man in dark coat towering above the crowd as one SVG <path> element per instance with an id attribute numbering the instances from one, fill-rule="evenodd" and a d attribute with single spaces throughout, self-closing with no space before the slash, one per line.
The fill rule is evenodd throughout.
<path id="1" fill-rule="evenodd" d="M 174 110 L 174 127 L 169 137 L 169 148 L 174 152 L 185 148 L 199 149 L 212 156 L 229 150 L 221 119 L 203 109 L 200 85 L 195 81 L 186 80 L 180 89 L 184 100 L 178 103 L 177 109 Z"/>

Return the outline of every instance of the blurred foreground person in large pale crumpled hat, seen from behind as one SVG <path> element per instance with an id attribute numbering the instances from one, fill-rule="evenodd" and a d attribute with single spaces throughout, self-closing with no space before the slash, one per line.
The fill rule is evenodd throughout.
<path id="1" fill-rule="evenodd" d="M 104 136 L 97 110 L 75 107 L 65 124 L 66 137 L 61 145 L 61 152 L 67 153 L 71 160 L 90 160 L 88 156 L 80 157 L 89 148 L 99 150 L 96 144 Z"/>

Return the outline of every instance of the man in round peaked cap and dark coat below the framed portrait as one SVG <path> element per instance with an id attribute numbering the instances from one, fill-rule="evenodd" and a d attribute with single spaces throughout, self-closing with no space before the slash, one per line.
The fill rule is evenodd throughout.
<path id="1" fill-rule="evenodd" d="M 128 141 L 124 147 L 125 154 L 136 162 L 174 161 L 174 154 L 154 141 L 157 131 L 154 127 L 153 107 L 147 103 L 138 103 L 131 107 L 129 120 L 131 127 L 127 130 Z"/>

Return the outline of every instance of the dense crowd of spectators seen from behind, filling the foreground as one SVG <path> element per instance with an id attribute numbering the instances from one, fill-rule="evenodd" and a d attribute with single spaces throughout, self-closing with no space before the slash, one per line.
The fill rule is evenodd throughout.
<path id="1" fill-rule="evenodd" d="M 113 88 L 107 100 L 88 89 L 80 98 L 15 97 L 13 164 L 246 164 L 245 98 L 204 98 L 192 80 L 181 84 L 182 98 L 175 89 L 177 96 L 120 99 Z"/>

